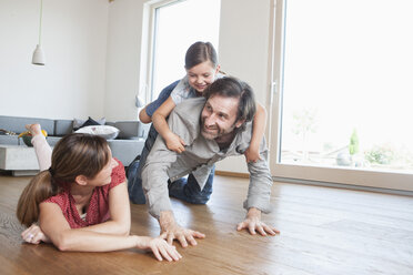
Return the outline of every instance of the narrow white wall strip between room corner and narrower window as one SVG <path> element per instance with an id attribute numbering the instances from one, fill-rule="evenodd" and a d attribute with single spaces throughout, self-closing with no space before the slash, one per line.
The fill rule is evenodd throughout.
<path id="1" fill-rule="evenodd" d="M 110 4 L 105 116 L 137 120 L 142 12 L 144 0 L 115 0 Z"/>

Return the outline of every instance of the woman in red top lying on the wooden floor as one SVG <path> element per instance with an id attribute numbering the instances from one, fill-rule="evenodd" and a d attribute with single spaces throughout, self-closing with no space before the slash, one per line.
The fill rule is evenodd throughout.
<path id="1" fill-rule="evenodd" d="M 39 124 L 27 125 L 42 172 L 23 190 L 17 210 L 28 243 L 51 242 L 60 251 L 152 249 L 159 261 L 181 255 L 163 236 L 129 235 L 130 206 L 123 165 L 107 141 L 69 134 L 53 153 Z M 49 167 L 50 166 L 50 167 Z M 46 170 L 49 167 L 49 170 Z M 33 224 L 39 221 L 39 226 Z"/>

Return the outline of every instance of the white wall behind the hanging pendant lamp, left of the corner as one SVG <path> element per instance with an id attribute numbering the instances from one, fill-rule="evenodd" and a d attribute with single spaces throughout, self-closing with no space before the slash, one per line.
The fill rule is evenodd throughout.
<path id="1" fill-rule="evenodd" d="M 0 0 L 0 115 L 103 116 L 108 12 L 105 0 L 43 0 L 39 67 L 40 0 Z"/>

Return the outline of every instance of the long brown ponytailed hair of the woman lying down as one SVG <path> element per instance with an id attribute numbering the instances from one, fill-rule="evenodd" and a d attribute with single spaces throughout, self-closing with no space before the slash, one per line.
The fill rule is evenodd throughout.
<path id="1" fill-rule="evenodd" d="M 73 183 L 78 175 L 93 179 L 110 161 L 107 141 L 98 135 L 73 133 L 54 146 L 49 170 L 37 174 L 20 195 L 17 217 L 30 226 L 39 218 L 39 204 L 61 191 L 61 183 Z"/>

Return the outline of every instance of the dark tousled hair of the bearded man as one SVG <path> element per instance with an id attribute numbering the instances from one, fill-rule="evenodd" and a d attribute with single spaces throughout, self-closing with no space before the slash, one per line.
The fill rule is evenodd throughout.
<path id="1" fill-rule="evenodd" d="M 203 96 L 208 100 L 215 94 L 239 99 L 235 121 L 249 122 L 253 120 L 256 112 L 255 96 L 248 83 L 232 77 L 218 79 L 206 88 Z"/>

